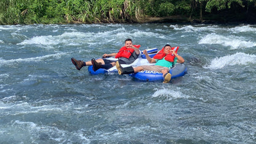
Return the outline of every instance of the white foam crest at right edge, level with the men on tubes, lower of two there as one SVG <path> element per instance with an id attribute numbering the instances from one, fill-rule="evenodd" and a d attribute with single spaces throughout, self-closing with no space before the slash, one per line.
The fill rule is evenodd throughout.
<path id="1" fill-rule="evenodd" d="M 256 55 L 237 52 L 233 55 L 214 58 L 210 65 L 204 66 L 204 68 L 219 69 L 228 65 L 248 65 L 249 63 L 256 63 Z"/>

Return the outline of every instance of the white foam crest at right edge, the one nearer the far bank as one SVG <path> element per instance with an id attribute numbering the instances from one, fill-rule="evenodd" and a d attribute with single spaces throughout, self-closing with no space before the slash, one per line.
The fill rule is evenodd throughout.
<path id="1" fill-rule="evenodd" d="M 231 49 L 240 49 L 256 46 L 256 42 L 246 41 L 237 36 L 222 36 L 220 34 L 207 34 L 202 38 L 199 44 L 220 44 L 222 46 L 231 47 Z"/>

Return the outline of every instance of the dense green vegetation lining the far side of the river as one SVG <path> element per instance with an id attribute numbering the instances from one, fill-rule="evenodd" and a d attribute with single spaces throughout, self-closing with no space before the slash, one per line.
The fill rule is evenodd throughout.
<path id="1" fill-rule="evenodd" d="M 256 0 L 1 0 L 0 24 L 126 23 L 148 18 L 256 22 Z M 175 17 L 177 19 L 177 17 Z"/>

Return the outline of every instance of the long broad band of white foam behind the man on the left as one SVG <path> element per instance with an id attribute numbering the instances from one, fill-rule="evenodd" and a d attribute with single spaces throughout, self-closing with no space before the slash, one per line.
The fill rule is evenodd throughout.
<path id="1" fill-rule="evenodd" d="M 42 45 L 42 46 L 55 46 L 58 44 L 66 46 L 80 46 L 83 44 L 96 44 L 98 45 L 98 39 L 102 39 L 102 42 L 124 41 L 124 38 L 128 37 L 159 37 L 166 39 L 165 36 L 161 36 L 158 33 L 146 32 L 146 31 L 127 31 L 124 27 L 117 28 L 116 30 L 99 31 L 97 33 L 92 32 L 79 32 L 73 30 L 72 32 L 65 32 L 63 34 L 52 36 L 34 36 L 30 39 L 18 43 L 17 45 Z"/>

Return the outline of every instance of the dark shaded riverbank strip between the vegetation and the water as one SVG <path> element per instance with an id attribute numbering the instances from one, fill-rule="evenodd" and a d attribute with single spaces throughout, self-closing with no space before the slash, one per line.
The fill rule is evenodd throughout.
<path id="1" fill-rule="evenodd" d="M 208 14 L 204 15 L 202 20 L 199 17 L 190 17 L 187 15 L 171 15 L 167 17 L 151 17 L 148 15 L 140 15 L 136 18 L 130 18 L 130 20 L 109 20 L 109 19 L 98 19 L 97 22 L 79 22 L 73 20 L 70 22 L 57 22 L 57 23 L 42 23 L 42 24 L 71 24 L 71 23 L 190 23 L 190 24 L 256 24 L 256 14 L 253 13 L 241 13 L 241 14 L 231 14 L 228 12 L 220 12 L 219 14 Z M 20 23 L 14 23 L 18 25 Z"/>

